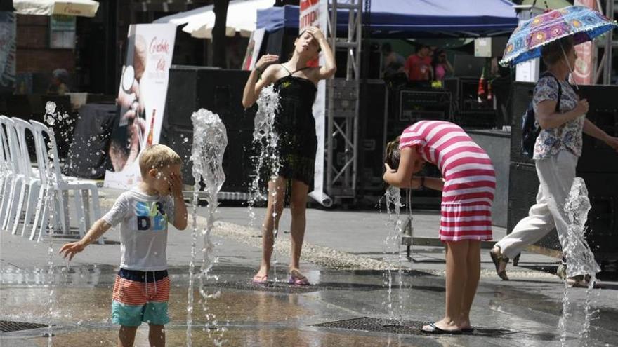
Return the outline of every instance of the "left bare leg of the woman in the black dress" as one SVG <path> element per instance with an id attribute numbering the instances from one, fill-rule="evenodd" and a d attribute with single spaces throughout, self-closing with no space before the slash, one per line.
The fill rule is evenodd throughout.
<path id="1" fill-rule="evenodd" d="M 279 227 L 279 219 L 285 201 L 285 184 L 286 179 L 283 177 L 268 181 L 268 207 L 262 224 L 262 262 L 256 277 L 268 275 L 270 270 L 270 256 L 272 255 L 272 244 L 275 240 L 272 231 Z M 275 213 L 276 216 L 273 220 L 272 215 Z"/>

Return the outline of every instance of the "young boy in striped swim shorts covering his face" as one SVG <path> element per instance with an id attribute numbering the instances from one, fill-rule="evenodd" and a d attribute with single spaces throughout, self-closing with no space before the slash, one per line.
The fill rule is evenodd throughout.
<path id="1" fill-rule="evenodd" d="M 118 346 L 133 346 L 142 322 L 150 325 L 150 346 L 165 346 L 170 289 L 165 254 L 167 223 L 178 230 L 187 227 L 181 164 L 180 156 L 163 144 L 144 149 L 140 156 L 142 182 L 122 193 L 84 238 L 60 248 L 60 254 L 71 260 L 120 223 L 120 271 L 112 301 L 112 322 L 121 325 Z"/>

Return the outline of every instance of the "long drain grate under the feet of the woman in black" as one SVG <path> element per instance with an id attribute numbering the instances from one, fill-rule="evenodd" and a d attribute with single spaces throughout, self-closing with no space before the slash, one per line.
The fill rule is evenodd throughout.
<path id="1" fill-rule="evenodd" d="M 280 293 L 309 293 L 322 290 L 382 290 L 381 285 L 360 285 L 355 283 L 320 283 L 317 285 L 290 285 L 287 282 L 268 281 L 265 284 L 256 284 L 251 280 L 222 281 L 206 284 L 209 287 L 228 288 L 236 290 L 256 290 L 258 292 Z"/>

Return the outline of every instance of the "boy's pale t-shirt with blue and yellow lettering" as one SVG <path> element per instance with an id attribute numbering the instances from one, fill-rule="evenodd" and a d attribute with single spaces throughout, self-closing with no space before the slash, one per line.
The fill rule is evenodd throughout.
<path id="1" fill-rule="evenodd" d="M 171 196 L 147 195 L 133 188 L 119 196 L 103 220 L 112 226 L 120 223 L 120 268 L 167 269 L 167 222 L 173 220 Z"/>

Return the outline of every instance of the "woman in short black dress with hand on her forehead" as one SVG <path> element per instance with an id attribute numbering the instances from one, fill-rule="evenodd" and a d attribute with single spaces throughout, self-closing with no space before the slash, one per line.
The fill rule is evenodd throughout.
<path id="1" fill-rule="evenodd" d="M 326 64 L 308 67 L 322 50 Z M 275 64 L 277 55 L 263 55 L 249 75 L 242 95 L 245 108 L 253 105 L 263 87 L 275 83 L 280 95 L 280 111 L 275 117 L 275 131 L 280 136 L 277 154 L 280 168 L 275 179 L 268 182 L 268 208 L 262 227 L 262 261 L 254 282 L 268 281 L 270 256 L 274 241 L 272 231 L 279 225 L 283 212 L 286 187 L 289 191 L 291 212 L 291 263 L 289 283 L 308 285 L 307 278 L 298 270 L 305 236 L 305 210 L 307 194 L 313 186 L 313 166 L 317 138 L 312 108 L 317 82 L 333 76 L 335 57 L 324 34 L 316 27 L 308 27 L 294 41 L 294 54 L 287 62 Z M 276 214 L 275 220 L 272 215 Z"/>

